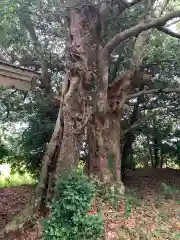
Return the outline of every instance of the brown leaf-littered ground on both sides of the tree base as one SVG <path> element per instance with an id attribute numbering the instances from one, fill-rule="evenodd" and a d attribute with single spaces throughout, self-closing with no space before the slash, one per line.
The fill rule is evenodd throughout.
<path id="1" fill-rule="evenodd" d="M 180 170 L 129 171 L 125 185 L 127 192 L 118 202 L 97 201 L 105 219 L 105 239 L 180 240 Z M 33 187 L 27 185 L 0 189 L 0 230 L 32 194 Z M 2 239 L 35 240 L 39 232 L 36 224 Z"/>

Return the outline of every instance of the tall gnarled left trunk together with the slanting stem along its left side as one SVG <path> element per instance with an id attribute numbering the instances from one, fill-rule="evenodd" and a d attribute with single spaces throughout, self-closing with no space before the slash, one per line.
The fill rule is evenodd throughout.
<path id="1" fill-rule="evenodd" d="M 77 4 L 69 10 L 68 23 L 67 74 L 62 88 L 61 114 L 47 148 L 40 177 L 40 186 L 44 186 L 43 183 L 47 183 L 45 178 L 52 172 L 51 183 L 46 184 L 48 192 L 51 192 L 56 177 L 78 164 L 84 129 L 92 112 L 89 93 L 97 76 L 97 49 L 100 43 L 98 10 L 91 4 Z M 42 193 L 42 188 L 37 188 L 37 196 L 42 198 Z"/>

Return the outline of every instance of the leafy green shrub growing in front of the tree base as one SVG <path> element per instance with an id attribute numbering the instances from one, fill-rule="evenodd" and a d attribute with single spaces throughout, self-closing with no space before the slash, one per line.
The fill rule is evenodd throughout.
<path id="1" fill-rule="evenodd" d="M 56 186 L 51 215 L 42 222 L 43 239 L 102 239 L 104 224 L 101 215 L 89 214 L 95 191 L 94 184 L 84 175 L 82 167 L 61 177 Z"/>

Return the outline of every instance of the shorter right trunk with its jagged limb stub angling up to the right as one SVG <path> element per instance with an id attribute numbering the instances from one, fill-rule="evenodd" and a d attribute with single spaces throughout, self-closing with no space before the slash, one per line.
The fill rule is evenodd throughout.
<path id="1" fill-rule="evenodd" d="M 107 109 L 96 106 L 91 133 L 90 157 L 92 169 L 97 169 L 102 182 L 121 184 L 120 119 L 123 115 L 125 95 L 130 88 L 132 73 L 125 73 L 109 85 Z M 101 99 L 98 99 L 100 102 Z M 97 101 L 97 105 L 100 103 Z M 111 164 L 110 164 L 111 162 Z M 111 165 L 111 166 L 110 166 Z"/>

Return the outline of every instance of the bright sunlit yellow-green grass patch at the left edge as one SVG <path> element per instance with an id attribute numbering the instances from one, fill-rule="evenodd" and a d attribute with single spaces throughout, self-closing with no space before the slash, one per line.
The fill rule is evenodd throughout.
<path id="1" fill-rule="evenodd" d="M 0 175 L 0 188 L 4 187 L 13 187 L 13 186 L 21 186 L 24 184 L 33 184 L 35 180 L 31 177 L 30 174 L 11 174 L 10 176 Z"/>

